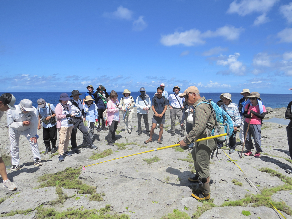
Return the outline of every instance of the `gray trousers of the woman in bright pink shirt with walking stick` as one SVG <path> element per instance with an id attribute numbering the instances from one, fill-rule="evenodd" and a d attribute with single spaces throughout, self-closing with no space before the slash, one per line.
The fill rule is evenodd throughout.
<path id="1" fill-rule="evenodd" d="M 248 126 L 248 123 L 244 122 L 244 135 L 245 135 L 245 132 L 247 130 L 247 126 Z M 256 151 L 257 152 L 263 152 L 262 146 L 261 146 L 262 142 L 260 140 L 260 138 L 261 138 L 260 125 L 253 125 L 253 124 L 249 125 L 249 130 L 247 132 L 246 140 L 245 140 L 245 149 L 246 150 L 254 149 L 254 145 L 253 145 L 253 142 L 251 140 L 251 136 L 254 139 L 254 145 L 255 145 Z"/>

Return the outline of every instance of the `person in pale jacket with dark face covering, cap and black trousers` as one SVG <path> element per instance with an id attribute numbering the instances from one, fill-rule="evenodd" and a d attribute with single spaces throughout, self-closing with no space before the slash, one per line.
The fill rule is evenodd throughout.
<path id="1" fill-rule="evenodd" d="M 138 135 L 142 134 L 142 115 L 145 123 L 146 135 L 150 136 L 149 123 L 148 123 L 148 112 L 151 107 L 150 97 L 146 94 L 145 88 L 140 88 L 141 93 L 137 99 L 135 106 L 137 107 L 137 117 L 138 117 Z"/>

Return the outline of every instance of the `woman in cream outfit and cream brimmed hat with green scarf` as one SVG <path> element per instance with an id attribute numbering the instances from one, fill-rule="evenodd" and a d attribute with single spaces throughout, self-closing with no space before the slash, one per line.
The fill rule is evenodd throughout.
<path id="1" fill-rule="evenodd" d="M 120 105 L 122 106 L 125 133 L 128 132 L 131 134 L 132 133 L 132 119 L 133 119 L 133 114 L 135 112 L 134 110 L 135 101 L 133 97 L 131 96 L 131 91 L 129 91 L 128 89 L 124 89 L 123 95 L 124 96 L 120 100 Z"/>

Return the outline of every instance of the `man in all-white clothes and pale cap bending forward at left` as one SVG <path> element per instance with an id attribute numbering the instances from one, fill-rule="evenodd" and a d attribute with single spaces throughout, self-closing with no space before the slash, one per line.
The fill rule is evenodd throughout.
<path id="1" fill-rule="evenodd" d="M 15 110 L 7 111 L 7 125 L 9 128 L 10 151 L 12 169 L 17 171 L 19 167 L 19 137 L 24 135 L 31 146 L 33 152 L 33 163 L 35 166 L 42 166 L 41 157 L 38 150 L 37 130 L 38 130 L 38 110 L 33 107 L 33 102 L 23 99 Z"/>

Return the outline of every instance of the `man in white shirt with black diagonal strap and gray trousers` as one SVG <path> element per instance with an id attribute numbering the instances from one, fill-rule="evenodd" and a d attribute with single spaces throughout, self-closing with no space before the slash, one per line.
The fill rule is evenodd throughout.
<path id="1" fill-rule="evenodd" d="M 169 97 L 167 98 L 169 101 L 169 109 L 170 109 L 170 123 L 171 123 L 171 136 L 175 135 L 175 119 L 178 118 L 179 123 L 182 119 L 183 116 L 183 102 L 184 102 L 184 97 L 179 97 L 179 91 L 180 88 L 179 86 L 174 86 L 174 88 L 172 89 L 172 91 L 174 92 L 174 94 L 170 94 Z M 184 137 L 184 124 L 180 125 L 180 136 Z"/>

